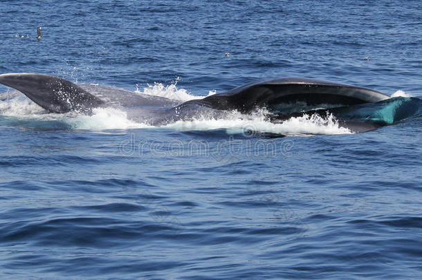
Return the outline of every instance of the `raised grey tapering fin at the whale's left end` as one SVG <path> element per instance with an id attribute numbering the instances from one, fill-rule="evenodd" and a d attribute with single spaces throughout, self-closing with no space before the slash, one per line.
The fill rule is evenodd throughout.
<path id="1" fill-rule="evenodd" d="M 42 108 L 55 112 L 89 112 L 104 101 L 60 77 L 35 73 L 0 75 L 0 84 L 15 88 Z"/>

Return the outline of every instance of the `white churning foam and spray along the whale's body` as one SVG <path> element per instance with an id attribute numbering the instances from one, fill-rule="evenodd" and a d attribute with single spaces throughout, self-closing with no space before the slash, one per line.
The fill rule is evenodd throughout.
<path id="1" fill-rule="evenodd" d="M 177 89 L 175 84 L 163 86 L 155 84 L 149 86 L 143 93 L 149 92 L 156 96 L 172 96 L 178 100 L 192 100 L 196 96 L 189 95 L 184 89 Z M 0 100 L 0 115 L 14 117 L 19 120 L 19 126 L 35 128 L 63 128 L 86 129 L 93 131 L 107 129 L 148 129 L 148 124 L 135 122 L 127 118 L 127 113 L 119 109 L 97 108 L 93 115 L 77 115 L 77 113 L 47 113 L 37 104 L 20 93 L 4 93 Z M 210 94 L 214 94 L 211 92 Z M 10 96 L 9 96 L 10 95 Z M 227 133 L 244 133 L 248 131 L 258 133 L 277 133 L 288 136 L 309 136 L 315 134 L 342 134 L 351 133 L 349 129 L 340 127 L 333 116 L 322 118 L 318 115 L 304 115 L 290 118 L 284 122 L 273 123 L 266 120 L 264 109 L 252 114 L 242 114 L 237 111 L 226 111 L 218 117 L 202 115 L 189 121 L 177 121 L 160 128 L 175 129 L 178 131 L 210 131 L 226 129 Z M 158 127 L 156 127 L 158 128 Z"/>

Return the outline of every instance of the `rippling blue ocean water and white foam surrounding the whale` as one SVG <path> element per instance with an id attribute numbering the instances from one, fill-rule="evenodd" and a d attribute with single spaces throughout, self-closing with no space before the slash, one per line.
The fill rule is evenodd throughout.
<path id="1" fill-rule="evenodd" d="M 1 1 L 0 73 L 180 101 L 311 77 L 405 102 L 422 97 L 421 10 Z M 419 279 L 421 131 L 417 114 L 351 133 L 333 117 L 275 124 L 260 111 L 153 127 L 111 108 L 46 113 L 0 86 L 0 277 Z"/>

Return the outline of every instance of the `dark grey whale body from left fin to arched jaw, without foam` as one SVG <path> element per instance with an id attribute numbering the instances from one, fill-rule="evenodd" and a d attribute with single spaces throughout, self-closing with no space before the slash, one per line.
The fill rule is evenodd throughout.
<path id="1" fill-rule="evenodd" d="M 226 93 L 210 95 L 203 99 L 177 102 L 165 97 L 134 93 L 122 88 L 98 85 L 77 85 L 61 77 L 36 73 L 8 73 L 0 75 L 0 84 L 17 89 L 30 100 L 49 112 L 77 111 L 90 114 L 97 107 L 125 109 L 128 118 L 160 125 L 177 120 L 189 120 L 196 115 L 218 117 L 224 111 L 248 113 L 265 107 L 276 109 L 277 104 L 306 102 L 306 104 L 335 104 L 354 106 L 386 100 L 389 96 L 369 88 L 349 86 L 304 78 L 260 80 L 239 86 Z M 329 110 L 329 109 L 327 109 Z M 327 113 L 327 110 L 322 110 Z M 313 110 L 320 113 L 320 110 Z M 271 122 L 282 122 L 305 112 L 279 112 L 271 115 Z M 354 132 L 369 131 L 380 127 L 371 122 L 341 120 L 343 127 Z"/>

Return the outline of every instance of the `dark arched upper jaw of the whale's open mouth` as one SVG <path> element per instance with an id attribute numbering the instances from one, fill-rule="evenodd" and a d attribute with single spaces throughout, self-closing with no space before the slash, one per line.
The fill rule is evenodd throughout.
<path id="1" fill-rule="evenodd" d="M 214 109 L 248 112 L 257 106 L 271 108 L 282 102 L 355 105 L 387 98 L 387 95 L 369 88 L 305 78 L 282 78 L 245 84 L 227 93 L 205 97 L 201 102 Z"/>

